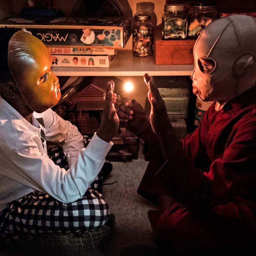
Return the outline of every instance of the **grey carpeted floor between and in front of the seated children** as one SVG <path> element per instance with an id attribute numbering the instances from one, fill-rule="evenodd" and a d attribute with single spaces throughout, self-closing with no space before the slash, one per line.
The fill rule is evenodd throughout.
<path id="1" fill-rule="evenodd" d="M 109 203 L 116 222 L 110 237 L 105 238 L 97 249 L 83 250 L 73 246 L 43 246 L 33 241 L 1 250 L 0 256 L 118 256 L 126 245 L 152 242 L 150 223 L 147 218 L 149 209 L 155 205 L 136 193 L 144 174 L 147 162 L 141 153 L 138 159 L 130 162 L 112 162 L 113 170 L 105 183 L 117 181 L 103 187 L 103 195 Z"/>

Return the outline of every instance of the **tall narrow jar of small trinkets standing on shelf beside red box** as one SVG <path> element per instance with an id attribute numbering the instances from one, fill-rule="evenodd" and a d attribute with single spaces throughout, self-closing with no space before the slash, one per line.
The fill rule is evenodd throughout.
<path id="1" fill-rule="evenodd" d="M 150 19 L 150 15 L 135 15 L 135 23 L 133 25 L 133 55 L 136 57 L 147 57 L 153 52 L 153 25 Z"/>

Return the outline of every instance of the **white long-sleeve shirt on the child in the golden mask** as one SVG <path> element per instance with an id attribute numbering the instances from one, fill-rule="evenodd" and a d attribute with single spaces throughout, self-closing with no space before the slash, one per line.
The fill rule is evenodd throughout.
<path id="1" fill-rule="evenodd" d="M 61 202 L 82 198 L 113 145 L 94 134 L 84 149 L 77 127 L 51 109 L 34 112 L 33 123 L 35 118 L 43 118 L 46 140 L 63 147 L 70 168 L 66 171 L 48 158 L 40 139 L 41 129 L 0 97 L 0 211 L 35 190 Z"/>

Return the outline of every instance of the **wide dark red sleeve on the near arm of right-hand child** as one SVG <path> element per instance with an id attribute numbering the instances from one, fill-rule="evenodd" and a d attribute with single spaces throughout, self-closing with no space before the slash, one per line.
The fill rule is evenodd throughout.
<path id="1" fill-rule="evenodd" d="M 223 156 L 214 160 L 207 172 L 197 168 L 192 158 L 180 149 L 178 157 L 173 155 L 168 159 L 155 178 L 192 213 L 224 203 L 255 187 L 255 130 L 255 118 L 236 123 Z M 194 133 L 190 139 L 197 136 Z M 197 152 L 192 157 L 197 157 Z"/>

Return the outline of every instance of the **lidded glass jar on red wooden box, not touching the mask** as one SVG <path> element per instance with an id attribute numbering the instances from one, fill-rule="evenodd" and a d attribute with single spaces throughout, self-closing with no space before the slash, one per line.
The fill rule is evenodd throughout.
<path id="1" fill-rule="evenodd" d="M 187 36 L 187 14 L 184 4 L 166 4 L 162 15 L 162 39 L 184 39 Z"/>

